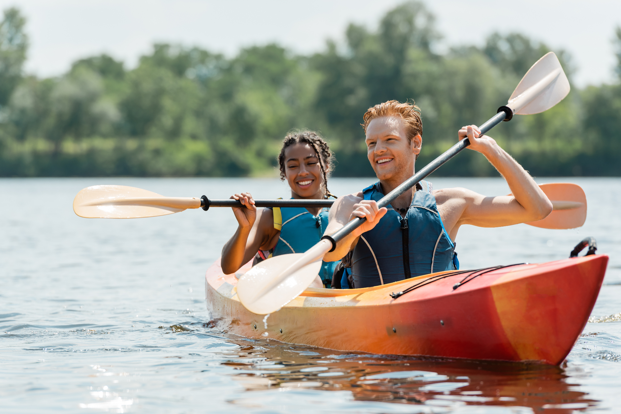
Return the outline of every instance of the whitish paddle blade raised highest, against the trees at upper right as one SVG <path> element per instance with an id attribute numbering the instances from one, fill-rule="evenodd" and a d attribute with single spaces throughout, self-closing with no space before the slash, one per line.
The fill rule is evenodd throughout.
<path id="1" fill-rule="evenodd" d="M 563 101 L 568 93 L 569 81 L 561 63 L 548 52 L 524 75 L 507 106 L 517 115 L 538 114 Z"/>

